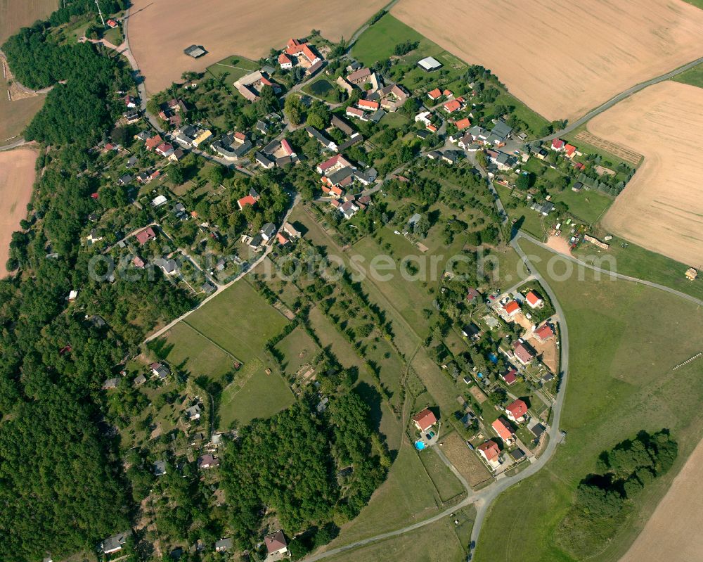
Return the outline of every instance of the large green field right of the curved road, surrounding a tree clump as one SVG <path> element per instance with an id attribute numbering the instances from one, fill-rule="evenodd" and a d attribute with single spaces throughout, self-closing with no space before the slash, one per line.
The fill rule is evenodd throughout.
<path id="1" fill-rule="evenodd" d="M 521 242 L 528 254 L 551 257 Z M 569 323 L 569 381 L 561 429 L 567 440 L 543 470 L 510 488 L 492 506 L 475 560 L 572 561 L 555 547 L 555 530 L 579 481 L 598 455 L 639 430 L 669 428 L 679 456 L 669 474 L 647 487 L 634 514 L 592 561 L 617 561 L 643 528 L 671 480 L 703 436 L 703 362 L 672 367 L 701 349 L 703 311 L 681 298 L 628 281 L 548 280 Z M 517 517 L 516 513 L 520 516 Z M 510 531 L 506 533 L 506 525 Z"/>

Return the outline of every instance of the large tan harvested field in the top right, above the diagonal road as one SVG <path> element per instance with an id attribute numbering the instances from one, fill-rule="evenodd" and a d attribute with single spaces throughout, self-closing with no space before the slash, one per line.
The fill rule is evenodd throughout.
<path id="1" fill-rule="evenodd" d="M 549 120 L 703 56 L 703 10 L 682 0 L 400 0 L 392 13 Z"/>

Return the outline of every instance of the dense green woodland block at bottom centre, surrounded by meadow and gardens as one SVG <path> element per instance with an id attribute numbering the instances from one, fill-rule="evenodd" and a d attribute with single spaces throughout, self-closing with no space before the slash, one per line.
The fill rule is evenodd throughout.
<path id="1" fill-rule="evenodd" d="M 223 487 L 241 548 L 260 539 L 264 507 L 290 535 L 326 529 L 356 516 L 385 479 L 388 454 L 356 392 L 333 398 L 323 414 L 313 411 L 298 403 L 254 421 L 228 448 Z"/>

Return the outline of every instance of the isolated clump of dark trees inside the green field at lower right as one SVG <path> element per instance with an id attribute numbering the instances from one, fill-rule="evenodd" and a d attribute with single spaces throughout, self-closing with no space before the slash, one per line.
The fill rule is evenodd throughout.
<path id="1" fill-rule="evenodd" d="M 640 492 L 669 471 L 677 454 L 678 445 L 665 429 L 640 431 L 602 452 L 598 473 L 588 475 L 576 490 L 576 501 L 557 529 L 557 544 L 579 560 L 602 551 Z"/>

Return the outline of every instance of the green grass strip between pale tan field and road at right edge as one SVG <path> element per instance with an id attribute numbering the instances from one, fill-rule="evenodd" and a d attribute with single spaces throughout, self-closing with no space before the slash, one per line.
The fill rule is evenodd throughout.
<path id="1" fill-rule="evenodd" d="M 703 300 L 703 279 L 701 277 L 696 281 L 686 279 L 685 272 L 688 265 L 645 250 L 636 244 L 627 243 L 627 248 L 623 248 L 624 242 L 622 238 L 614 236 L 608 242 L 610 244 L 608 250 L 601 250 L 593 244 L 581 244 L 576 248 L 574 256 L 591 264 L 594 260 L 599 260 L 599 266 L 607 270 L 612 267 L 608 260 L 603 258 L 612 258 L 620 274 L 653 281 Z"/>

